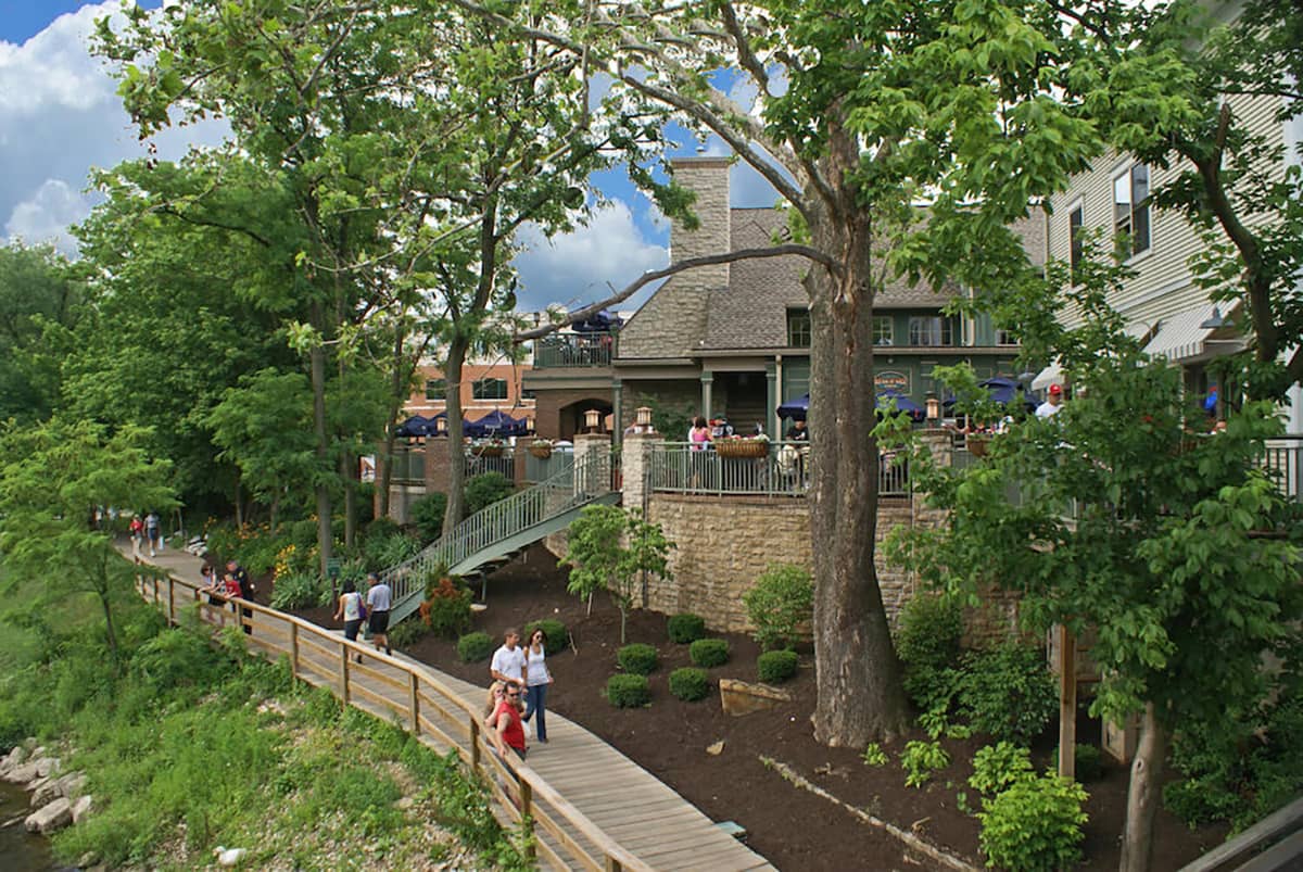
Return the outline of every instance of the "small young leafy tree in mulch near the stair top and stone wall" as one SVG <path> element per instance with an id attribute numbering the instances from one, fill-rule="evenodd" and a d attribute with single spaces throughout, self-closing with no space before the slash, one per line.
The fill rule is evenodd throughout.
<path id="1" fill-rule="evenodd" d="M 588 600 L 606 590 L 620 610 L 620 644 L 625 641 L 629 609 L 644 572 L 672 577 L 668 568 L 674 544 L 659 524 L 625 514 L 616 506 L 588 506 L 569 527 L 569 546 L 562 563 L 571 567 L 567 589 Z"/>

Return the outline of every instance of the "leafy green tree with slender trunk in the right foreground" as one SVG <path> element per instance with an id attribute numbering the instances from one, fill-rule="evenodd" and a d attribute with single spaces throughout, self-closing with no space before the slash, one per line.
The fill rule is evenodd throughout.
<path id="1" fill-rule="evenodd" d="M 1253 708 L 1273 680 L 1264 653 L 1298 633 L 1299 553 L 1260 468 L 1281 424 L 1270 404 L 1250 403 L 1226 433 L 1192 430 L 1203 416 L 1179 370 L 1148 360 L 1106 304 L 1121 271 L 1098 267 L 1066 300 L 1066 272 L 1050 272 L 1046 296 L 1024 300 L 1023 327 L 1035 336 L 1037 312 L 1079 306 L 1081 327 L 1050 327 L 1037 342 L 1062 349 L 1088 390 L 994 439 L 967 471 L 929 468 L 919 454 L 920 486 L 949 521 L 899 530 L 894 553 L 969 597 L 992 583 L 1019 590 L 1036 628 L 1097 630 L 1095 712 L 1144 716 L 1121 864 L 1144 869 L 1173 731 L 1221 729 Z"/>

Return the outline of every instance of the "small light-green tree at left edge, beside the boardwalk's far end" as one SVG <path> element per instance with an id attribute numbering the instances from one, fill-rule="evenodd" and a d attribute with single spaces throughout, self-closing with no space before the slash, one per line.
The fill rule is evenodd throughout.
<path id="1" fill-rule="evenodd" d="M 104 637 L 117 666 L 113 600 L 128 590 L 136 567 L 113 544 L 108 510 L 176 504 L 171 464 L 143 450 L 147 434 L 124 428 L 108 435 L 89 421 L 52 420 L 0 434 L 0 550 L 5 583 L 39 581 L 46 606 L 94 594 L 104 613 Z M 96 520 L 99 519 L 99 520 Z"/>

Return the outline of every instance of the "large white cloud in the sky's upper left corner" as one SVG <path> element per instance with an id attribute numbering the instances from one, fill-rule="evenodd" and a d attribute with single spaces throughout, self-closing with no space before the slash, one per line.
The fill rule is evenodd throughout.
<path id="1" fill-rule="evenodd" d="M 21 46 L 0 42 L 0 225 L 7 233 L 70 245 L 68 223 L 85 218 L 93 203 L 91 194 L 78 193 L 87 171 L 145 156 L 116 82 L 90 53 L 95 18 L 119 10 L 117 0 L 82 7 Z M 207 121 L 164 132 L 155 139 L 158 156 L 177 159 L 192 143 L 220 142 L 225 130 L 224 123 Z"/>

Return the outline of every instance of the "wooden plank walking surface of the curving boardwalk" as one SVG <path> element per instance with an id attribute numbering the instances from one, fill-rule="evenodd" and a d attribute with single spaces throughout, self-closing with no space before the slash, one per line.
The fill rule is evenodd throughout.
<path id="1" fill-rule="evenodd" d="M 129 551 L 125 544 L 124 550 Z M 167 570 L 179 581 L 202 583 L 199 559 L 185 551 L 169 549 L 146 560 Z M 192 602 L 193 594 L 188 589 L 184 593 L 185 598 L 177 594 L 175 609 Z M 220 614 L 231 615 L 231 610 Z M 466 735 L 465 718 L 459 717 L 461 713 L 446 710 L 440 706 L 438 693 L 426 693 L 420 688 L 427 684 L 447 690 L 474 710 L 483 705 L 483 687 L 417 663 L 399 653 L 395 658 L 412 663 L 412 669 L 421 676 L 420 682 L 408 671 L 387 663 L 384 658 L 366 657 L 362 665 L 347 660 L 340 662 L 337 652 L 310 641 L 305 633 L 293 630 L 289 622 L 274 619 L 274 615 L 279 613 L 254 614 L 251 648 L 261 648 L 270 656 L 293 649 L 297 652 L 300 678 L 331 687 L 336 695 L 347 693 L 351 704 L 386 719 L 408 722 L 412 719 L 410 713 L 417 710 L 421 738 L 440 751 L 453 744 L 466 753 L 465 749 L 473 747 L 472 736 Z M 550 789 L 534 790 L 532 811 L 536 819 L 551 817 L 556 821 L 552 829 L 542 825 L 538 829 L 541 862 L 547 859 L 554 867 L 567 868 L 573 860 L 562 859 L 564 856 L 577 852 L 601 856 L 589 838 L 592 833 L 584 833 L 582 828 L 566 822 L 568 816 L 563 809 L 572 808 L 601 830 L 601 834 L 619 845 L 623 852 L 636 858 L 637 865 L 719 872 L 774 868 L 765 858 L 714 826 L 709 817 L 683 796 L 582 726 L 549 713 L 547 727 L 549 742 L 530 747 L 528 766 Z M 552 834 L 562 830 L 564 834 Z M 564 845 L 571 839 L 582 851 L 567 852 L 567 847 L 575 847 Z M 582 865 L 592 864 L 588 858 L 584 860 Z M 590 868 L 601 865 L 592 864 Z M 609 862 L 607 868 L 618 865 L 612 867 Z"/>

